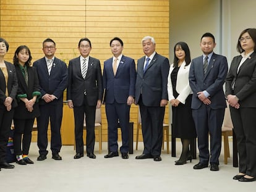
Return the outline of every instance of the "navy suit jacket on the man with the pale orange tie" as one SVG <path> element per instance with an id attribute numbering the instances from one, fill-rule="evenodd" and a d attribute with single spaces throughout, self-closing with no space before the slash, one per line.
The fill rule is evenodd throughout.
<path id="1" fill-rule="evenodd" d="M 136 70 L 134 59 L 122 56 L 117 68 L 116 76 L 113 72 L 113 57 L 104 62 L 103 88 L 105 102 L 113 104 L 126 103 L 129 96 L 135 96 Z"/>

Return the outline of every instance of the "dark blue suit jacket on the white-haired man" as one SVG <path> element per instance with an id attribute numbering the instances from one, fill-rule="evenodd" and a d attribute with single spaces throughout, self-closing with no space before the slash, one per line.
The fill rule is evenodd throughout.
<path id="1" fill-rule="evenodd" d="M 135 104 L 138 104 L 141 94 L 145 106 L 160 107 L 161 99 L 168 100 L 169 60 L 156 53 L 143 74 L 144 61 L 145 56 L 137 64 Z"/>

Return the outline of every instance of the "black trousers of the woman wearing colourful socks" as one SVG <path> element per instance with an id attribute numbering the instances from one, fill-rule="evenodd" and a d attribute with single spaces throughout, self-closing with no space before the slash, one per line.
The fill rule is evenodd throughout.
<path id="1" fill-rule="evenodd" d="M 16 156 L 22 154 L 28 155 L 34 120 L 35 118 L 14 119 L 14 152 Z"/>

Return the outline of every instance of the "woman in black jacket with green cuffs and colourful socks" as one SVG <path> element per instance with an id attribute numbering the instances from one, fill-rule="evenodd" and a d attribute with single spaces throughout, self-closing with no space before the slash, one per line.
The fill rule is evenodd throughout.
<path id="1" fill-rule="evenodd" d="M 17 91 L 18 106 L 14 113 L 14 152 L 17 164 L 26 165 L 34 162 L 28 158 L 35 117 L 39 116 L 38 77 L 35 68 L 30 67 L 32 56 L 27 46 L 19 46 L 14 54 L 14 65 L 19 82 Z M 23 136 L 22 136 L 23 134 Z M 22 148 L 21 148 L 22 143 Z"/>

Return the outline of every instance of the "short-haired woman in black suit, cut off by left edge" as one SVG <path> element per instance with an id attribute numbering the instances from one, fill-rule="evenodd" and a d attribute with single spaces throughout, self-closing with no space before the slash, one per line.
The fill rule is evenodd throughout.
<path id="1" fill-rule="evenodd" d="M 17 106 L 15 97 L 18 83 L 14 65 L 4 61 L 8 49 L 7 41 L 0 38 L 0 170 L 1 168 L 14 168 L 14 165 L 6 162 L 6 150 L 12 118 L 14 117 L 14 107 Z"/>

